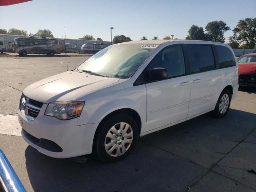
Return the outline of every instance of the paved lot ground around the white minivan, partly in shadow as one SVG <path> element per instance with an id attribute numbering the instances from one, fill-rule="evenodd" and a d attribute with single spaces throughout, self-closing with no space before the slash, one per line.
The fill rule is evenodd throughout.
<path id="1" fill-rule="evenodd" d="M 88 57 L 68 57 L 73 69 Z M 241 90 L 222 119 L 204 114 L 139 138 L 113 164 L 40 154 L 19 136 L 22 90 L 67 70 L 62 56 L 0 57 L 0 148 L 28 191 L 256 192 L 256 91 Z"/>

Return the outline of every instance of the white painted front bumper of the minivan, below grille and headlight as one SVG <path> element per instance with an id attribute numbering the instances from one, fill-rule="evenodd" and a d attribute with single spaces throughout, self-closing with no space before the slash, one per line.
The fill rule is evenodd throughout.
<path id="1" fill-rule="evenodd" d="M 79 118 L 59 120 L 55 117 L 44 115 L 47 104 L 44 104 L 34 120 L 29 120 L 18 108 L 18 121 L 22 126 L 22 137 L 32 147 L 42 154 L 54 158 L 70 158 L 92 153 L 94 134 L 98 123 L 77 125 Z M 28 134 L 27 134 L 28 133 Z M 40 147 L 31 139 L 50 140 L 62 150 L 54 152 Z"/>

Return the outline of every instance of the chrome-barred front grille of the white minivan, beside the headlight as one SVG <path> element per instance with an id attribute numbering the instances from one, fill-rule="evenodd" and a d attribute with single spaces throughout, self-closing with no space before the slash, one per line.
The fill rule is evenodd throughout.
<path id="1" fill-rule="evenodd" d="M 44 103 L 30 99 L 22 94 L 20 99 L 20 110 L 24 110 L 28 119 L 34 120 L 38 116 L 43 104 Z"/>

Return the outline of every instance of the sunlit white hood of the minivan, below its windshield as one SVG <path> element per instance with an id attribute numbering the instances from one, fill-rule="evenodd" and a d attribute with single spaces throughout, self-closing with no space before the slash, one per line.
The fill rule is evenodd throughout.
<path id="1" fill-rule="evenodd" d="M 68 71 L 31 84 L 23 90 L 24 95 L 43 103 L 77 100 L 100 88 L 118 82 L 86 73 Z"/>

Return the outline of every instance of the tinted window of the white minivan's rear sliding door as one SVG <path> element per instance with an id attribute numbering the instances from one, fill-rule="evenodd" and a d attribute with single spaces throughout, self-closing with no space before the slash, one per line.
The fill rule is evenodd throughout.
<path id="1" fill-rule="evenodd" d="M 187 45 L 191 73 L 215 69 L 214 56 L 210 45 Z"/>

